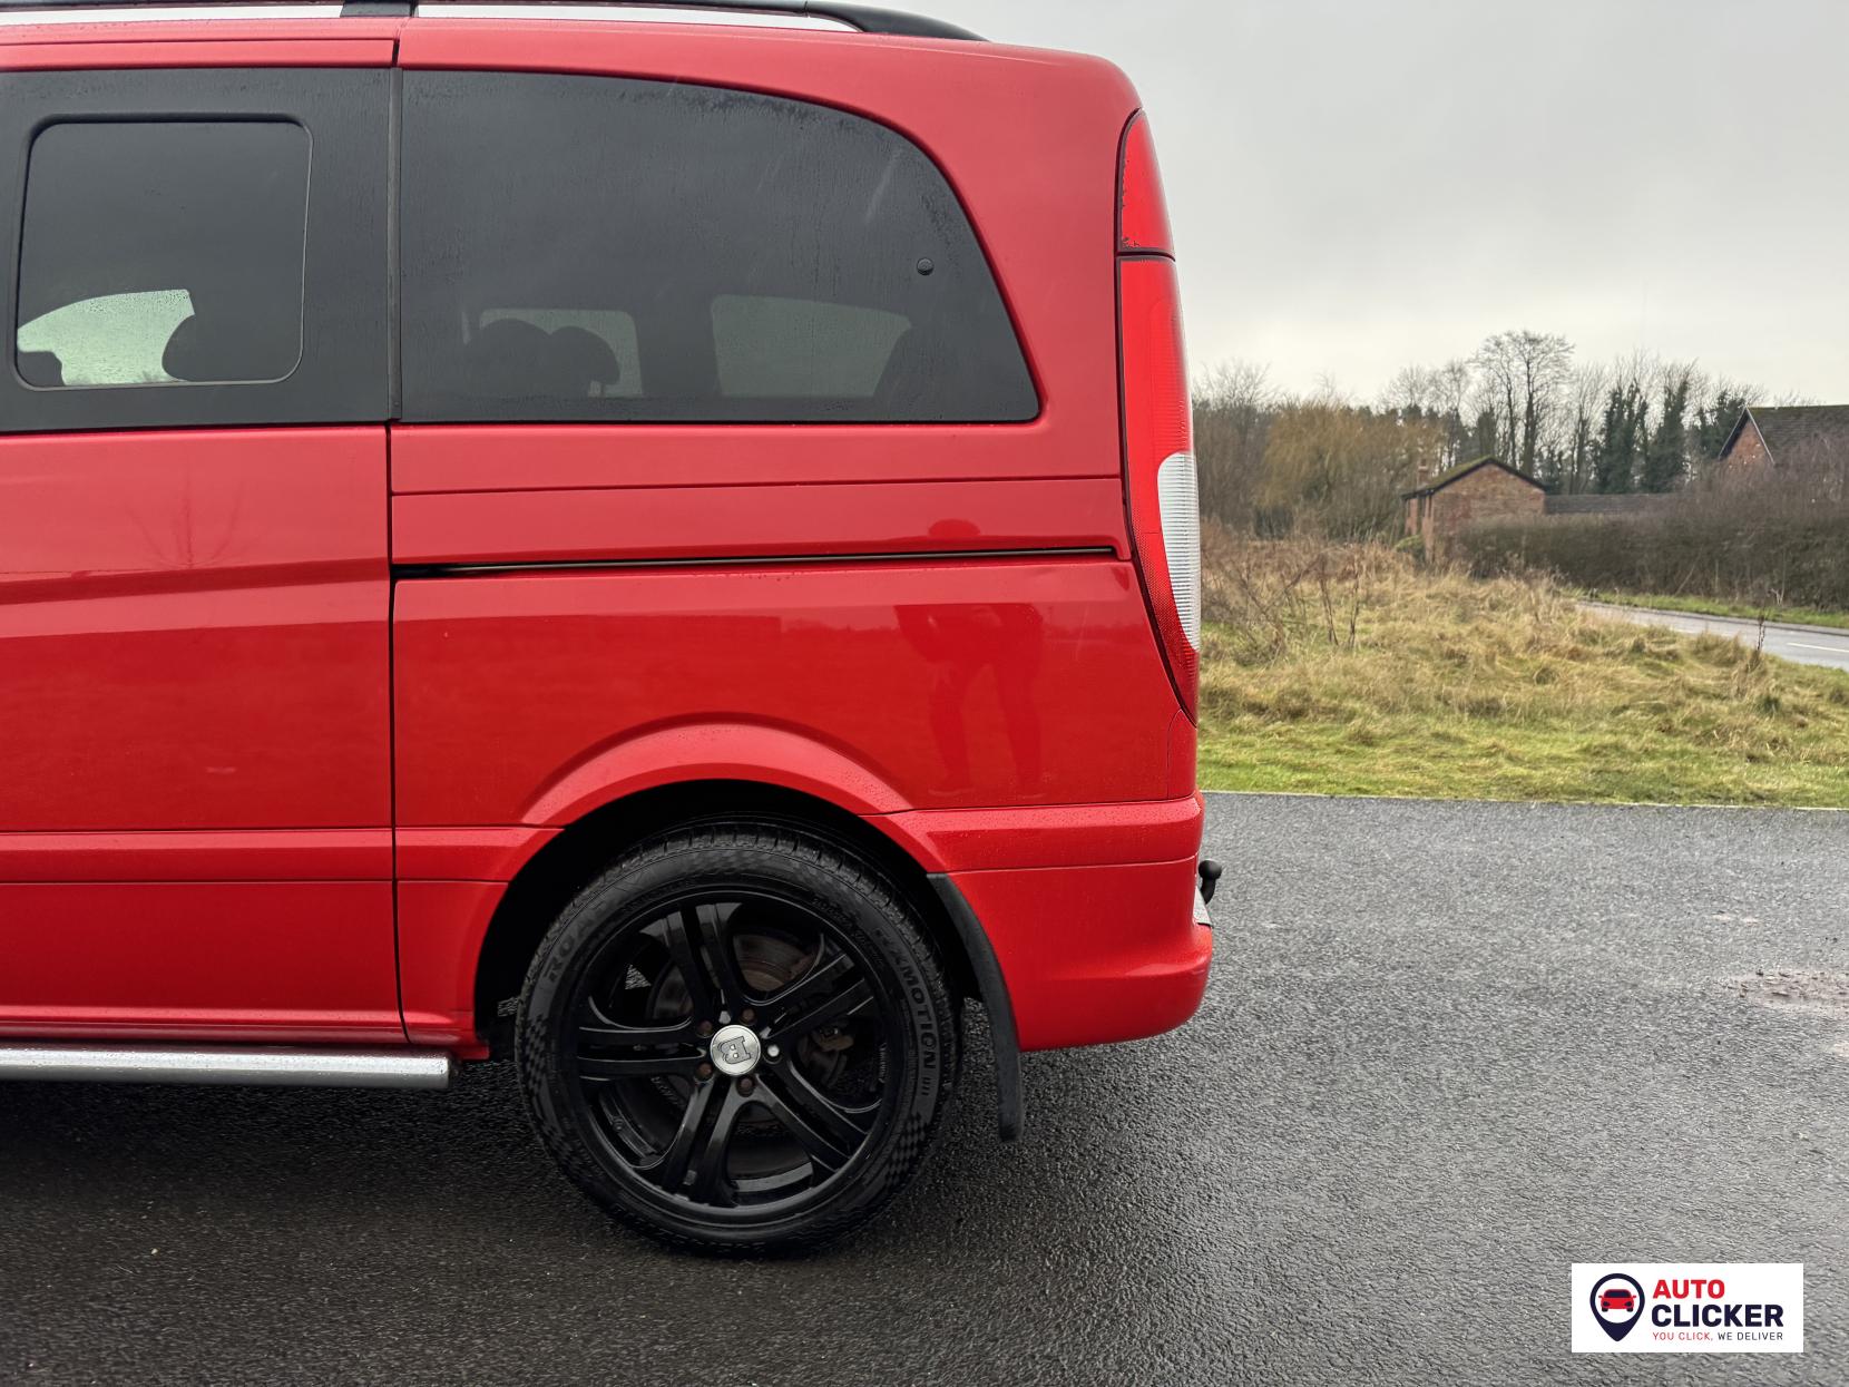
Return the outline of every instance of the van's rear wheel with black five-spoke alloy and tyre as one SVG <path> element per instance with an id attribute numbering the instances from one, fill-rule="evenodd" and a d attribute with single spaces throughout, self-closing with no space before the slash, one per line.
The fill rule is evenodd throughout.
<path id="1" fill-rule="evenodd" d="M 679 1248 L 784 1252 L 873 1217 L 923 1163 L 961 1013 L 917 910 L 784 825 L 647 841 L 553 923 L 514 1054 L 540 1137 Z"/>

